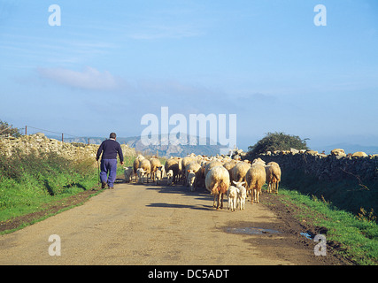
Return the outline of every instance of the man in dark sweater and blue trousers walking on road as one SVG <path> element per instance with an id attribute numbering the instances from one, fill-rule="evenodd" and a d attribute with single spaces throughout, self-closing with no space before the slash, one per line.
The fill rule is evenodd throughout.
<path id="1" fill-rule="evenodd" d="M 114 188 L 114 181 L 117 176 L 117 154 L 120 157 L 120 164 L 123 165 L 122 149 L 120 148 L 120 143 L 116 142 L 117 135 L 115 133 L 111 133 L 109 137 L 109 140 L 101 143 L 96 155 L 96 161 L 98 161 L 101 153 L 103 153 L 100 167 L 100 179 L 102 188 L 106 186 L 106 183 L 108 184 L 109 188 Z"/>

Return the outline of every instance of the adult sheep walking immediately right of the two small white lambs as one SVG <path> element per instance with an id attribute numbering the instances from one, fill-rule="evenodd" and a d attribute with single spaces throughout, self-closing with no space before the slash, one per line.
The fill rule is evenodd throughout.
<path id="1" fill-rule="evenodd" d="M 252 164 L 250 170 L 245 175 L 248 189 L 252 191 L 251 203 L 259 203 L 259 195 L 261 193 L 261 187 L 266 182 L 266 171 L 262 164 Z"/>

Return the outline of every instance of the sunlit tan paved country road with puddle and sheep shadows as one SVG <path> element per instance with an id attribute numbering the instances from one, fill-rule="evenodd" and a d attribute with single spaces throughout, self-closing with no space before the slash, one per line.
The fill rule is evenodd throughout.
<path id="1" fill-rule="evenodd" d="M 263 203 L 225 206 L 213 209 L 204 189 L 120 183 L 0 236 L 0 264 L 322 264 Z M 61 256 L 49 254 L 52 234 Z"/>

